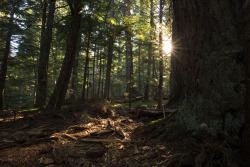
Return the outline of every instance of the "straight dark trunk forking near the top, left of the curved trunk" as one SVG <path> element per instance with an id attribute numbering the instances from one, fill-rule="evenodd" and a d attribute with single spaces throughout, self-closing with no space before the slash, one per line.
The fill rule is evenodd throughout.
<path id="1" fill-rule="evenodd" d="M 46 8 L 47 2 L 43 3 L 43 17 L 42 17 L 42 31 L 41 31 L 41 45 L 40 45 L 40 55 L 38 64 L 38 85 L 37 85 L 37 95 L 36 95 L 36 106 L 42 108 L 46 102 L 47 96 L 47 75 L 48 75 L 48 63 L 49 63 L 49 53 L 52 41 L 52 27 L 54 21 L 55 13 L 55 1 L 51 0 L 49 2 L 49 12 L 48 19 L 46 22 Z"/>

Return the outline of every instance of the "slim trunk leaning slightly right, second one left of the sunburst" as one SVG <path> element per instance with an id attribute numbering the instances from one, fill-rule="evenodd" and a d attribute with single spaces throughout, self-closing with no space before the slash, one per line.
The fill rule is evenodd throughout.
<path id="1" fill-rule="evenodd" d="M 145 84 L 144 100 L 149 100 L 149 89 L 150 89 L 150 77 L 151 77 L 151 63 L 153 55 L 153 31 L 154 31 L 154 9 L 153 0 L 150 0 L 150 41 L 148 45 L 148 67 L 147 67 L 147 80 Z"/>

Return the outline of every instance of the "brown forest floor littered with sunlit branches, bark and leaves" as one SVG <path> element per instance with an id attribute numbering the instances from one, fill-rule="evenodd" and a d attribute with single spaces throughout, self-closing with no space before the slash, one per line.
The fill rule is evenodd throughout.
<path id="1" fill-rule="evenodd" d="M 54 114 L 2 114 L 0 166 L 238 166 L 231 147 L 214 141 L 205 147 L 195 138 L 153 138 L 148 129 L 159 118 L 136 117 L 126 110 L 121 105 L 73 104 Z"/>

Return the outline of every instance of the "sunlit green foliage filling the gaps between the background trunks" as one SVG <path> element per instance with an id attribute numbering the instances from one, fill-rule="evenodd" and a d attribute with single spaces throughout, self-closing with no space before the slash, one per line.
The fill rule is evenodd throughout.
<path id="1" fill-rule="evenodd" d="M 34 0 L 18 0 L 17 12 L 15 16 L 15 39 L 12 42 L 13 47 L 12 57 L 9 61 L 7 82 L 5 88 L 5 107 L 16 108 L 26 104 L 33 104 L 36 93 L 37 84 L 37 62 L 40 48 L 41 36 L 41 17 L 42 4 Z M 131 15 L 124 16 L 124 2 L 114 0 L 114 5 L 109 1 L 98 0 L 83 0 L 84 5 L 82 10 L 81 24 L 81 42 L 79 43 L 78 56 L 78 75 L 76 97 L 81 97 L 84 65 L 86 57 L 87 36 L 91 35 L 90 39 L 90 63 L 88 77 L 88 94 L 90 97 L 102 97 L 102 91 L 105 83 L 105 72 L 107 63 L 108 38 L 114 37 L 113 62 L 111 69 L 111 98 L 124 98 L 126 91 L 126 38 L 125 30 L 132 32 L 133 45 L 133 89 L 136 95 L 142 96 L 145 81 L 147 79 L 147 55 L 148 55 L 148 40 L 150 39 L 150 24 L 149 24 L 149 0 L 131 1 Z M 154 1 L 155 17 L 158 1 Z M 9 1 L 5 0 L 0 7 L 0 33 L 3 37 L 6 36 L 8 29 L 8 14 Z M 65 55 L 66 41 L 69 29 L 70 8 L 67 1 L 57 1 L 56 11 L 53 26 L 53 37 L 49 57 L 48 73 L 48 98 L 50 97 L 55 84 L 57 82 L 59 72 L 62 66 Z M 114 11 L 112 14 L 111 11 Z M 164 25 L 167 26 L 167 25 Z M 157 27 L 156 27 L 157 28 Z M 155 31 L 157 32 L 157 31 Z M 3 55 L 5 39 L 0 39 L 0 60 Z M 141 45 L 140 50 L 138 48 Z M 158 44 L 157 39 L 154 41 L 154 57 L 155 60 L 151 63 L 155 64 L 155 74 L 158 75 Z M 139 59 L 140 53 L 140 59 Z M 94 63 L 95 60 L 95 64 Z M 101 60 L 101 62 L 100 62 Z M 139 64 L 140 62 L 140 64 Z M 101 64 L 101 65 L 100 65 Z M 166 67 L 169 60 L 165 60 Z M 101 67 L 101 69 L 100 69 Z M 140 71 L 139 71 L 140 69 Z M 152 69 L 153 70 L 153 69 Z M 169 89 L 168 78 L 170 69 L 165 68 L 164 92 Z M 140 78 L 139 78 L 140 73 Z M 151 86 L 156 87 L 158 83 L 157 77 L 151 78 Z M 140 84 L 139 84 L 140 81 Z M 94 86 L 94 87 L 93 87 Z M 141 92 L 138 92 L 141 89 Z M 71 85 L 69 85 L 70 92 Z M 93 93 L 93 91 L 95 91 Z M 98 92 L 99 91 L 99 92 Z M 153 95 L 154 89 L 152 88 Z M 165 96 L 167 94 L 165 93 Z M 69 97 L 69 96 L 67 96 Z M 132 106 L 144 105 L 147 107 L 153 106 L 155 102 L 135 102 Z"/>

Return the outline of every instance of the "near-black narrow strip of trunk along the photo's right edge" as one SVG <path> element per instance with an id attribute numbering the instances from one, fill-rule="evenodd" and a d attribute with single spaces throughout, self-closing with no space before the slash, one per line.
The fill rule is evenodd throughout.
<path id="1" fill-rule="evenodd" d="M 245 166 L 250 166 L 250 1 L 243 5 L 243 31 L 244 31 L 244 61 L 246 72 L 246 113 L 245 127 L 243 131 L 243 152 Z"/>

